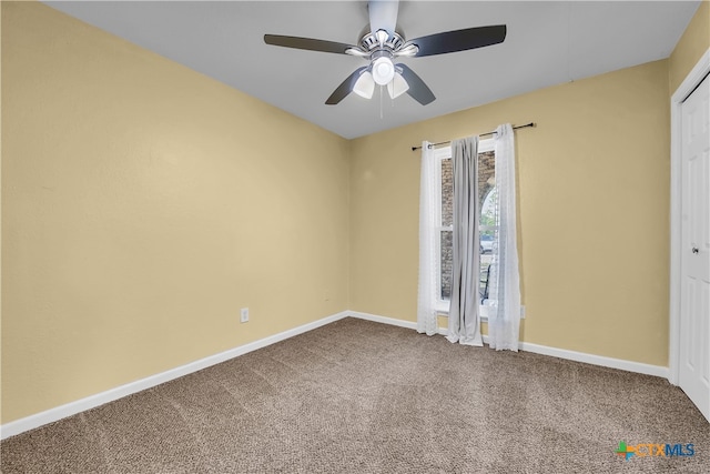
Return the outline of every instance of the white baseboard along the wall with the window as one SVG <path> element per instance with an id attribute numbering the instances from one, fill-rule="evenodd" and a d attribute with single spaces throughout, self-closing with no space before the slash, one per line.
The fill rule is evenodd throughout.
<path id="1" fill-rule="evenodd" d="M 393 317 L 378 316 L 376 314 L 358 313 L 351 311 L 349 315 L 362 320 L 375 321 L 378 323 L 392 324 L 400 327 L 409 327 L 416 330 L 417 324 L 410 321 L 402 321 Z M 439 334 L 446 335 L 448 329 L 439 327 Z M 488 335 L 484 335 L 484 343 L 488 344 Z M 602 367 L 619 369 L 639 374 L 655 375 L 668 379 L 668 367 L 660 365 L 650 365 L 641 362 L 626 361 L 623 359 L 606 357 L 604 355 L 587 354 L 584 352 L 569 351 L 567 349 L 549 347 L 546 345 L 532 344 L 530 342 L 521 342 L 520 351 L 534 352 L 536 354 L 551 355 L 552 357 L 566 359 L 568 361 L 584 362 Z"/>

